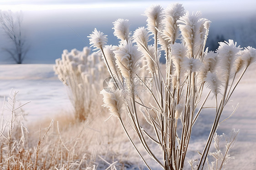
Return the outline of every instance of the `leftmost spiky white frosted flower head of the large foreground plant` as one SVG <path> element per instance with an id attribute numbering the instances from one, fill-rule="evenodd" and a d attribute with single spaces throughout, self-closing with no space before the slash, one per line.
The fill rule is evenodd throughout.
<path id="1" fill-rule="evenodd" d="M 102 49 L 105 44 L 107 44 L 107 35 L 104 35 L 102 32 L 97 31 L 95 28 L 94 31 L 92 31 L 92 34 L 88 36 L 90 41 L 90 47 L 96 48 L 96 49 Z M 94 50 L 96 50 L 94 49 Z"/>

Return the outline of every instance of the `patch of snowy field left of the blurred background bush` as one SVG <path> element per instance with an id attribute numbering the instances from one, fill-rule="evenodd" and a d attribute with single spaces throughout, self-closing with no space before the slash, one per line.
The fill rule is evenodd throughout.
<path id="1" fill-rule="evenodd" d="M 10 90 L 18 91 L 17 105 L 28 101 L 23 109 L 28 121 L 53 118 L 61 112 L 72 112 L 66 87 L 54 74 L 51 64 L 0 65 L 0 100 Z"/>

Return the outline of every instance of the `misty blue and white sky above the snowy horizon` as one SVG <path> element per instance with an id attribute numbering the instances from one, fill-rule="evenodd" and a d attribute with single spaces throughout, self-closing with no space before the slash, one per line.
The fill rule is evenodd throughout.
<path id="1" fill-rule="evenodd" d="M 72 3 L 71 3 L 72 2 Z M 151 4 L 164 8 L 176 1 L 148 0 L 0 0 L 0 10 L 22 10 L 23 30 L 30 46 L 25 63 L 54 63 L 62 50 L 89 46 L 87 36 L 94 28 L 108 35 L 109 44 L 117 44 L 113 36 L 113 21 L 128 19 L 130 30 L 146 25 L 141 15 Z M 256 14 L 255 0 L 181 0 L 185 10 L 201 11 L 204 18 L 212 21 L 212 33 L 225 30 L 224 25 L 236 25 Z M 211 32 L 210 32 L 211 34 Z M 232 38 L 232 37 L 231 37 Z M 6 43 L 0 31 L 0 48 Z M 0 52 L 0 63 L 10 63 Z"/>

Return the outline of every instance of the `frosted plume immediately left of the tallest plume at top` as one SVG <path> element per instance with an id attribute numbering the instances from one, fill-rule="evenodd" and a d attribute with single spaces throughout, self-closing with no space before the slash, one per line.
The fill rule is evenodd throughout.
<path id="1" fill-rule="evenodd" d="M 157 29 L 161 26 L 161 21 L 163 19 L 163 8 L 160 5 L 152 5 L 145 11 L 145 15 L 148 17 L 147 26 L 148 30 L 154 35 L 157 33 Z"/>

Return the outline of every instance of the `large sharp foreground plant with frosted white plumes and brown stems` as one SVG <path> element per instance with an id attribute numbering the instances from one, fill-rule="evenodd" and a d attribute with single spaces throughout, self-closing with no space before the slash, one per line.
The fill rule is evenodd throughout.
<path id="1" fill-rule="evenodd" d="M 248 66 L 256 62 L 256 49 L 247 47 L 242 50 L 236 42 L 228 40 L 220 42 L 217 51 L 208 52 L 205 43 L 210 21 L 201 18 L 200 12 L 185 13 L 181 4 L 171 5 L 166 10 L 154 5 L 145 11 L 145 15 L 147 28 L 139 27 L 131 36 L 128 20 L 114 22 L 114 35 L 121 40 L 118 46 L 105 46 L 103 42 L 93 44 L 94 39 L 103 34 L 93 32 L 93 36 L 89 36 L 92 46 L 102 51 L 108 71 L 118 85 L 113 94 L 101 92 L 104 106 L 111 115 L 118 117 L 148 169 L 152 168 L 138 150 L 129 128 L 137 135 L 144 151 L 164 170 L 183 170 L 186 165 L 191 165 L 192 170 L 203 170 L 209 155 L 218 159 L 217 168 L 221 169 L 230 159 L 227 151 L 231 148 L 229 145 L 234 145 L 237 133 L 227 140 L 224 155 L 220 147 L 215 153 L 210 153 L 210 145 L 218 138 L 215 133 L 225 105 Z M 151 39 L 154 40 L 152 44 Z M 165 77 L 164 65 L 159 62 L 161 54 L 166 58 Z M 143 77 L 145 70 L 151 75 L 151 85 L 146 79 L 148 77 Z M 138 83 L 148 93 L 145 89 L 142 91 Z M 209 90 L 206 95 L 205 90 Z M 214 95 L 215 110 L 209 111 L 215 118 L 209 137 L 199 151 L 197 165 L 194 165 L 195 160 L 186 164 L 192 129 L 197 125 L 200 113 L 209 108 L 206 101 L 211 100 L 210 93 Z M 152 145 L 159 146 L 162 157 L 157 156 Z"/>

